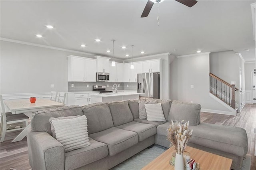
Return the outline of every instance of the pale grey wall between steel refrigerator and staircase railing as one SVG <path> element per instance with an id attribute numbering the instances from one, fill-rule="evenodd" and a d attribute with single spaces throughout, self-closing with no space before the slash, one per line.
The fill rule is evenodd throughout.
<path id="1" fill-rule="evenodd" d="M 209 71 L 209 53 L 178 56 L 170 64 L 170 99 L 199 103 L 204 111 L 228 112 L 209 95 Z"/>

